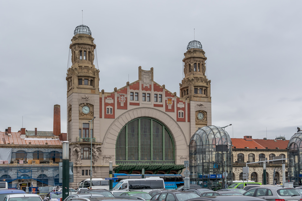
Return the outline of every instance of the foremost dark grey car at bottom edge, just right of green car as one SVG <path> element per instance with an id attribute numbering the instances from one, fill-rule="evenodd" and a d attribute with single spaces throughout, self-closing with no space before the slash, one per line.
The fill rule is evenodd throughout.
<path id="1" fill-rule="evenodd" d="M 190 198 L 197 198 L 200 197 L 196 193 L 191 192 L 163 192 L 155 194 L 150 201 L 158 200 L 158 201 L 165 201 L 165 200 L 174 200 L 174 201 L 184 201 Z"/>

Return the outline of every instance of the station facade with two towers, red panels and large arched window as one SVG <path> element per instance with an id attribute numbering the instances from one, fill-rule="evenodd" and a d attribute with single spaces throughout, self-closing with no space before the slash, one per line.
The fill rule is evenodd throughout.
<path id="1" fill-rule="evenodd" d="M 71 41 L 67 140 L 74 181 L 89 177 L 91 157 L 92 177 L 108 177 L 110 161 L 115 173 L 139 174 L 145 168 L 145 174 L 180 174 L 189 160 L 191 137 L 198 128 L 212 124 L 210 80 L 201 43 L 194 40 L 187 46 L 182 60 L 185 77 L 177 96 L 153 79 L 153 68 L 141 67 L 138 80 L 112 92 L 99 90 L 90 29 L 76 27 Z"/>

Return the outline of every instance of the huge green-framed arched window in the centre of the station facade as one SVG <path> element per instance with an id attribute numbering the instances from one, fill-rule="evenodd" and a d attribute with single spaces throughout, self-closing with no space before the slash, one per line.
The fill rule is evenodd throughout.
<path id="1" fill-rule="evenodd" d="M 174 144 L 168 129 L 150 118 L 130 121 L 116 141 L 117 161 L 174 162 Z"/>

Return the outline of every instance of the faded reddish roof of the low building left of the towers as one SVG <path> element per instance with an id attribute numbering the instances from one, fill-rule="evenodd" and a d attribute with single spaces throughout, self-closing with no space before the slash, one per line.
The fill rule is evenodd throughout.
<path id="1" fill-rule="evenodd" d="M 59 139 L 46 139 L 46 138 L 25 138 L 22 139 L 20 133 L 11 133 L 11 136 L 5 135 L 5 132 L 0 132 L 0 144 L 17 144 L 17 145 L 62 145 Z"/>

